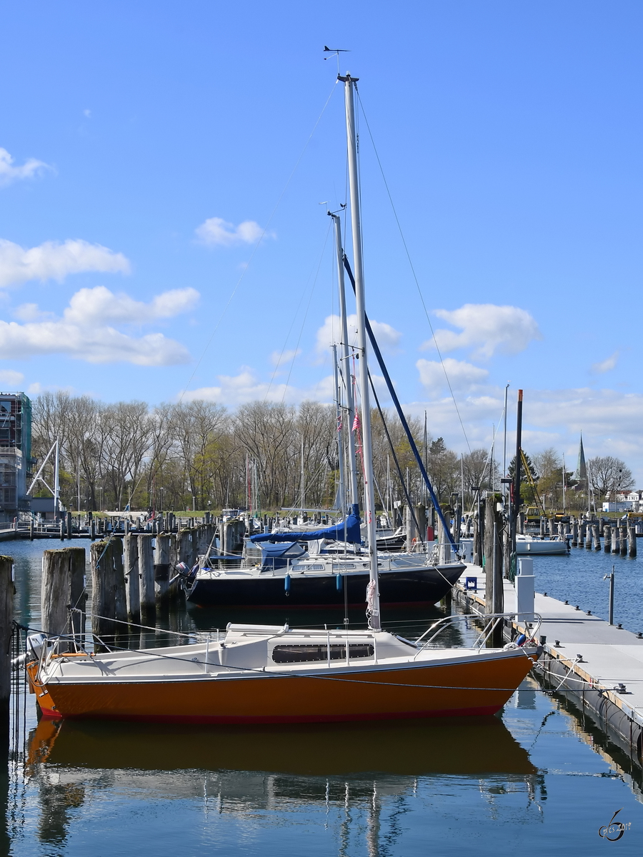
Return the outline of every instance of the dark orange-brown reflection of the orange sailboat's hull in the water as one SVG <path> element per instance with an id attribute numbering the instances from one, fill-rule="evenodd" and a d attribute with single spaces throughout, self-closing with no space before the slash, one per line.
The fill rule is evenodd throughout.
<path id="1" fill-rule="evenodd" d="M 373 752 L 377 747 L 377 752 Z M 231 770 L 339 776 L 394 774 L 526 775 L 526 750 L 497 717 L 457 723 L 414 720 L 261 727 L 72 722 L 43 719 L 28 767 L 57 769 Z"/>

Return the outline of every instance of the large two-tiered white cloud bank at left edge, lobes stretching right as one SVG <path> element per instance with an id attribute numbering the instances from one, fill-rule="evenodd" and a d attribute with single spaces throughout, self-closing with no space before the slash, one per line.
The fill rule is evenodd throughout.
<path id="1" fill-rule="evenodd" d="M 112 324 L 141 324 L 169 318 L 191 309 L 198 297 L 195 289 L 176 289 L 143 303 L 97 286 L 77 291 L 62 319 L 46 317 L 45 320 L 36 304 L 23 304 L 18 309 L 25 324 L 0 321 L 0 358 L 63 354 L 88 363 L 123 362 L 137 366 L 188 363 L 189 352 L 175 339 L 167 339 L 162 333 L 134 337 Z"/>

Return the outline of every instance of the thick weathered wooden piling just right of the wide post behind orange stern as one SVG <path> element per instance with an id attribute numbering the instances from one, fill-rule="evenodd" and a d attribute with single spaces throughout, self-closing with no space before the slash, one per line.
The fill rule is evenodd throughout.
<path id="1" fill-rule="evenodd" d="M 127 622 L 122 549 L 119 538 L 93 542 L 89 548 L 92 566 L 92 630 L 100 638 L 115 637 L 127 631 L 127 627 L 122 624 Z"/>

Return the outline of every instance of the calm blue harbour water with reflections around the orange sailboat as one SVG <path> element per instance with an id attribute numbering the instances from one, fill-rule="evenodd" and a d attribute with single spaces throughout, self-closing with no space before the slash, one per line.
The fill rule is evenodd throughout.
<path id="1" fill-rule="evenodd" d="M 57 544 L 10 545 L 16 608 L 32 626 L 44 547 Z M 555 576 L 558 566 L 596 559 L 577 553 L 567 566 L 564 557 L 547 560 L 547 572 L 538 560 L 537 573 Z M 555 594 L 549 578 L 547 585 Z M 435 614 L 385 619 L 408 629 Z M 224 624 L 202 611 L 174 621 Z M 409 857 L 475 848 L 484 857 L 499 848 L 549 855 L 572 848 L 640 854 L 643 847 L 640 772 L 564 697 L 545 695 L 532 680 L 502 717 L 461 722 L 57 726 L 37 722 L 33 696 L 25 702 L 26 750 L 21 735 L 9 788 L 3 785 L 4 853 Z M 621 807 L 618 818 L 631 828 L 619 842 L 604 842 L 598 827 Z"/>

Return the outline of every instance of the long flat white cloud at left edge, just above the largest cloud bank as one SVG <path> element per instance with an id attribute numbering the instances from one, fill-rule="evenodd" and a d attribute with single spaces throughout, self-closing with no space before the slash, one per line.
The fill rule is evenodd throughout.
<path id="1" fill-rule="evenodd" d="M 62 283 L 70 273 L 87 271 L 129 273 L 129 261 L 122 253 L 87 241 L 45 241 L 38 247 L 24 249 L 0 238 L 0 288 L 30 279 L 42 282 L 55 279 Z"/>

